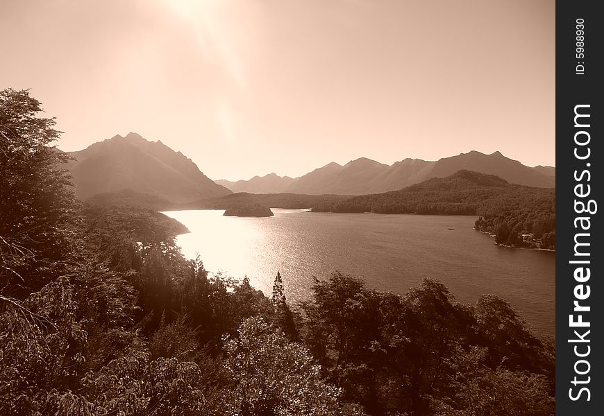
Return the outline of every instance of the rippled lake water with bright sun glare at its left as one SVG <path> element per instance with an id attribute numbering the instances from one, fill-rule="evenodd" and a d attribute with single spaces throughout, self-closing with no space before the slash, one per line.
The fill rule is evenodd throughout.
<path id="1" fill-rule="evenodd" d="M 267 295 L 277 271 L 292 302 L 308 297 L 312 276 L 327 279 L 334 270 L 401 295 L 432 277 L 460 302 L 485 293 L 503 297 L 530 328 L 555 333 L 555 253 L 498 247 L 472 229 L 475 216 L 273 212 L 270 218 L 222 216 L 222 210 L 164 214 L 190 229 L 177 239 L 186 257 L 199 252 L 206 270 L 247 275 Z"/>

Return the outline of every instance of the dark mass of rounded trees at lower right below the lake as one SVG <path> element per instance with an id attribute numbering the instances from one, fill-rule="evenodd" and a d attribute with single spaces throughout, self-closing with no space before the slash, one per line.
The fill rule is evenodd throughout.
<path id="1" fill-rule="evenodd" d="M 315 281 L 313 292 L 303 307 L 305 344 L 328 380 L 343 389 L 343 399 L 362 404 L 369 414 L 433 415 L 444 412 L 435 407 L 439 403 L 463 408 L 459 383 L 469 388 L 475 380 L 455 374 L 459 352 L 472 349 L 484 352 L 480 376 L 492 383 L 485 391 L 503 389 L 514 377 L 538 381 L 539 406 L 547 414 L 553 352 L 505 301 L 489 295 L 476 306 L 458 304 L 431 279 L 404 296 L 376 293 L 340 273 Z"/>

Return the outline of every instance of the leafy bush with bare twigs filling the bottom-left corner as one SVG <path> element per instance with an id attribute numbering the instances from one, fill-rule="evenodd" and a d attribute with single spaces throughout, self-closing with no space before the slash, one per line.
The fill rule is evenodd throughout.
<path id="1" fill-rule="evenodd" d="M 69 392 L 84 361 L 87 333 L 76 320 L 73 286 L 59 278 L 23 303 L 0 300 L 0 413 L 35 414 Z"/>

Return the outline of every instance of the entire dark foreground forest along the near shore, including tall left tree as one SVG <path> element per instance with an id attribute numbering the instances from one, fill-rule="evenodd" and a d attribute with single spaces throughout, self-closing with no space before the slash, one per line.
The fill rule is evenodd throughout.
<path id="1" fill-rule="evenodd" d="M 1 415 L 553 414 L 553 342 L 505 301 L 210 276 L 175 220 L 78 205 L 39 111 L 0 92 Z"/>

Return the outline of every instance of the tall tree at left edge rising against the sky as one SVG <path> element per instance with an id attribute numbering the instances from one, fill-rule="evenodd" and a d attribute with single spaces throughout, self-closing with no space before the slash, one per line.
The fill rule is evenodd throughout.
<path id="1" fill-rule="evenodd" d="M 51 143 L 54 119 L 39 117 L 28 91 L 0 92 L 0 286 L 19 297 L 40 290 L 74 252 L 78 216 L 69 156 Z"/>

